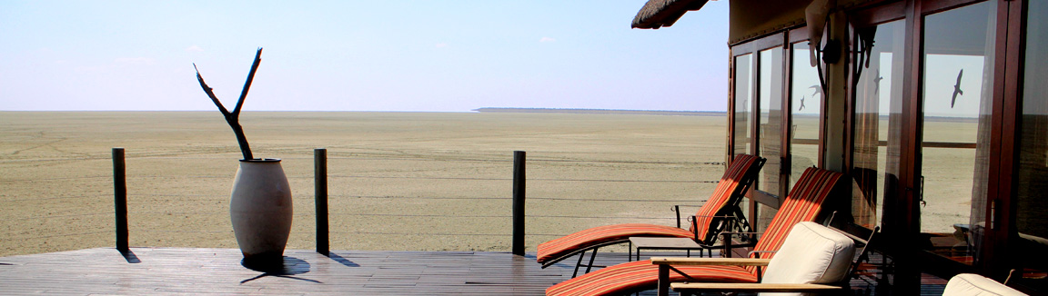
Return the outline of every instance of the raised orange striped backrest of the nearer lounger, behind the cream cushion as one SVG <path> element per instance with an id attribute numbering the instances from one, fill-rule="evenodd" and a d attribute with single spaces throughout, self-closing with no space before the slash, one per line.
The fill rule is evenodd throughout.
<path id="1" fill-rule="evenodd" d="M 789 196 L 783 201 L 771 219 L 768 228 L 764 230 L 754 247 L 755 251 L 776 251 L 782 247 L 786 241 L 786 234 L 793 228 L 793 225 L 804 221 L 814 221 L 815 215 L 823 208 L 823 202 L 830 195 L 833 186 L 844 174 L 830 172 L 822 168 L 808 167 L 793 184 Z M 774 253 L 762 254 L 762 258 L 771 258 Z M 756 273 L 756 267 L 748 268 Z"/>

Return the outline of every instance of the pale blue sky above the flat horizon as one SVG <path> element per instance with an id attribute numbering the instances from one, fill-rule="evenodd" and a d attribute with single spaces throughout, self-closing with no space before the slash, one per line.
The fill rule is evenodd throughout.
<path id="1" fill-rule="evenodd" d="M 2 1 L 0 110 L 723 111 L 727 1 Z"/>

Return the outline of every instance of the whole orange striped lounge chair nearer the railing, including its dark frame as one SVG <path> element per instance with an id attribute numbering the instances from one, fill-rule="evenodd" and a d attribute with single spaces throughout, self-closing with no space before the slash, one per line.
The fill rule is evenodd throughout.
<path id="1" fill-rule="evenodd" d="M 575 265 L 577 273 L 578 267 L 582 266 L 582 256 L 587 251 L 593 251 L 590 255 L 592 261 L 598 248 L 628 243 L 631 236 L 691 237 L 699 245 L 712 246 L 716 243 L 717 233 L 726 230 L 730 225 L 743 225 L 740 227 L 748 229 L 745 217 L 739 208 L 739 202 L 757 179 L 764 161 L 764 158 L 751 155 L 737 155 L 717 183 L 713 195 L 692 219 L 690 229 L 680 228 L 679 212 L 678 227 L 638 223 L 594 227 L 540 244 L 537 260 L 546 268 L 580 254 L 578 264 Z"/>

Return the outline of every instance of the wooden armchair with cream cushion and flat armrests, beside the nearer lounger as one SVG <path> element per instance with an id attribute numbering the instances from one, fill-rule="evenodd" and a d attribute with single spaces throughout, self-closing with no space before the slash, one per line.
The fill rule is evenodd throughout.
<path id="1" fill-rule="evenodd" d="M 652 258 L 660 273 L 672 266 L 756 265 L 766 266 L 759 283 L 674 282 L 681 295 L 700 292 L 831 292 L 843 290 L 855 256 L 855 242 L 843 232 L 813 222 L 793 226 L 782 248 L 770 259 L 757 258 Z M 722 259 L 722 260 L 718 260 Z M 723 260 L 730 259 L 730 260 Z M 660 288 L 659 295 L 669 291 Z M 782 295 L 784 294 L 776 294 Z M 800 295 L 800 294 L 796 294 Z"/>

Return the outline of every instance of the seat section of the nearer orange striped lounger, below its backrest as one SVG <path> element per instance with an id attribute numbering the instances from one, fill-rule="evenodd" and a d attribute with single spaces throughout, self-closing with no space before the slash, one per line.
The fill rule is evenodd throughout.
<path id="1" fill-rule="evenodd" d="M 757 276 L 741 267 L 674 267 L 699 281 L 757 282 Z M 686 280 L 670 271 L 671 281 Z M 608 295 L 651 289 L 658 283 L 658 266 L 651 260 L 616 265 L 584 274 L 546 289 L 546 295 Z"/>

